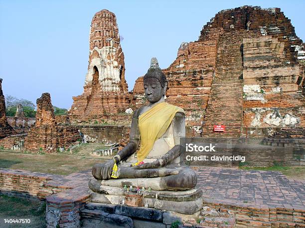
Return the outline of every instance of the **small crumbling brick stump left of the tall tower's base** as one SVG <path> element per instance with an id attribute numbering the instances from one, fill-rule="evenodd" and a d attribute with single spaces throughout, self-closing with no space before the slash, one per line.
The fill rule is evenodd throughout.
<path id="1" fill-rule="evenodd" d="M 24 140 L 25 149 L 56 152 L 78 143 L 78 140 L 77 128 L 56 123 L 50 94 L 43 93 L 37 99 L 36 122 Z"/>

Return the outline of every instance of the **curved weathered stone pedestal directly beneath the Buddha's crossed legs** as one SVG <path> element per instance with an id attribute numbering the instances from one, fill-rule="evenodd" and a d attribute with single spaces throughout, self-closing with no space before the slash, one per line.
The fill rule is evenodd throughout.
<path id="1" fill-rule="evenodd" d="M 106 186 L 100 180 L 90 180 L 89 187 L 94 190 L 91 193 L 91 202 L 144 206 L 144 208 L 154 208 L 177 212 L 185 215 L 192 215 L 202 207 L 202 191 L 192 189 L 187 191 L 158 191 L 145 190 L 141 195 L 126 192 L 123 187 Z"/>

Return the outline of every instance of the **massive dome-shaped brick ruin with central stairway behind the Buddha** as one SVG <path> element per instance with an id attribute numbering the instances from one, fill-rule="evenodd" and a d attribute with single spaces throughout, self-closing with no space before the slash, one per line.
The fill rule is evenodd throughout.
<path id="1" fill-rule="evenodd" d="M 218 12 L 198 41 L 182 43 L 164 69 L 166 102 L 186 111 L 188 125 L 215 136 L 268 135 L 305 127 L 304 43 L 280 8 L 242 6 Z M 141 107 L 143 77 L 133 103 Z"/>

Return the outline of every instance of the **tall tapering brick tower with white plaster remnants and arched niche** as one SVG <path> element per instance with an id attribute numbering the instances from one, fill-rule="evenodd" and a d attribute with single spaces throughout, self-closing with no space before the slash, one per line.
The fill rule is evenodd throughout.
<path id="1" fill-rule="evenodd" d="M 88 120 L 125 112 L 130 94 L 116 15 L 106 9 L 91 22 L 88 73 L 82 95 L 73 97 L 70 120 Z"/>

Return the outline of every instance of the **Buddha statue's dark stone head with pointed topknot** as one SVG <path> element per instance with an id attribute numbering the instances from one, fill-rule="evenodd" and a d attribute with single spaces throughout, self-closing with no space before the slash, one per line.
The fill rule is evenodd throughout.
<path id="1" fill-rule="evenodd" d="M 152 58 L 151 67 L 144 76 L 144 91 L 148 101 L 153 104 L 160 99 L 164 99 L 167 89 L 167 80 L 164 73 L 159 68 L 156 58 Z"/>

